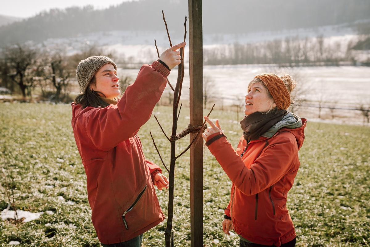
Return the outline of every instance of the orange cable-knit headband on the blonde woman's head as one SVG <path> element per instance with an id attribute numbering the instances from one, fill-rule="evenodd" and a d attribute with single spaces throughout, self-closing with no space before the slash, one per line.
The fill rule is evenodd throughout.
<path id="1" fill-rule="evenodd" d="M 279 76 L 273 73 L 262 73 L 256 75 L 255 78 L 263 81 L 263 85 L 269 90 L 277 109 L 288 109 L 290 105 L 289 92 L 284 81 Z"/>

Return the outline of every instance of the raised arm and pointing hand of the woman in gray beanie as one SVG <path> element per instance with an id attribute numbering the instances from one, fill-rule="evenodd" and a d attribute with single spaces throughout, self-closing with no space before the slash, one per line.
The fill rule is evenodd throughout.
<path id="1" fill-rule="evenodd" d="M 185 44 L 164 51 L 162 63 L 154 61 L 150 66 L 142 66 L 135 82 L 127 87 L 117 105 L 92 109 L 84 116 L 87 136 L 97 148 L 110 150 L 135 136 L 149 120 L 165 89 L 169 69 L 181 62 L 176 50 Z"/>

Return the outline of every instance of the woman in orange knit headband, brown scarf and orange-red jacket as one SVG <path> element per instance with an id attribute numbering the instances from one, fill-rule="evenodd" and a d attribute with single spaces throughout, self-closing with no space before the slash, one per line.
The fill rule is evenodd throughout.
<path id="1" fill-rule="evenodd" d="M 255 76 L 245 96 L 243 136 L 233 149 L 216 120 L 204 117 L 202 137 L 232 181 L 222 230 L 234 230 L 240 247 L 295 246 L 296 233 L 286 208 L 287 193 L 299 168 L 306 119 L 287 111 L 296 83 L 289 75 Z"/>

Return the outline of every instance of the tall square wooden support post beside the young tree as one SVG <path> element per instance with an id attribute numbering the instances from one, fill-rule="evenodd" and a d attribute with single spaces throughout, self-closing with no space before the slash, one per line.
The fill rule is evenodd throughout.
<path id="1" fill-rule="evenodd" d="M 189 0 L 190 125 L 203 123 L 202 0 Z M 190 140 L 196 133 L 190 134 Z M 203 246 L 203 140 L 190 148 L 191 247 Z"/>

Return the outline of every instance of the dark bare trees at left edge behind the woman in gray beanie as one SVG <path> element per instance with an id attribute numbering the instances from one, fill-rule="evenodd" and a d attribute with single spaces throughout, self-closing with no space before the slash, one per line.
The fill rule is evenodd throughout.
<path id="1" fill-rule="evenodd" d="M 97 54 L 104 52 L 95 46 L 71 56 L 64 51 L 42 50 L 29 44 L 9 46 L 0 53 L 0 86 L 10 93 L 21 93 L 24 99 L 32 97 L 37 90 L 42 99 L 71 101 L 71 85 L 78 63 Z M 113 54 L 104 56 L 113 57 Z M 131 83 L 129 77 L 121 81 L 121 90 Z"/>

